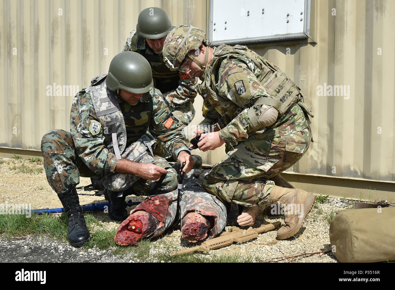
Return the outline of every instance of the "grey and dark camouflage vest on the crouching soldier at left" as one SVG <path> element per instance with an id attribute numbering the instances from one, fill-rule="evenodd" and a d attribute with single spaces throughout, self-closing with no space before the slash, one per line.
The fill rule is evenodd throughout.
<path id="1" fill-rule="evenodd" d="M 125 148 L 147 132 L 152 116 L 152 96 L 147 96 L 149 102 L 138 102 L 133 110 L 124 112 L 125 104 L 121 104 L 115 97 L 115 92 L 107 88 L 105 78 L 107 74 L 95 77 L 90 82 L 90 97 L 103 128 L 104 145 L 115 153 L 117 160 L 121 159 Z M 148 94 L 147 94 L 148 95 Z M 125 115 L 125 116 L 124 116 Z M 125 117 L 127 122 L 125 124 Z M 138 120 L 138 123 L 135 122 Z"/>

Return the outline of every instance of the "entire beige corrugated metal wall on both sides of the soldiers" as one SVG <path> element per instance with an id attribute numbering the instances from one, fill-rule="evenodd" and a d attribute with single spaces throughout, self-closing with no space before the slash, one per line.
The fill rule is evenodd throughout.
<path id="1" fill-rule="evenodd" d="M 316 115 L 315 142 L 288 172 L 394 182 L 395 1 L 314 3 L 315 45 L 250 47 L 300 85 Z M 151 6 L 162 7 L 173 25 L 206 29 L 206 1 L 4 0 L 0 146 L 40 149 L 45 132 L 67 130 L 73 94 L 57 95 L 56 86 L 81 89 L 106 73 L 139 12 Z M 350 94 L 330 96 L 329 86 L 340 85 Z M 202 118 L 201 105 L 198 97 L 193 124 Z M 216 162 L 223 152 L 203 161 Z"/>

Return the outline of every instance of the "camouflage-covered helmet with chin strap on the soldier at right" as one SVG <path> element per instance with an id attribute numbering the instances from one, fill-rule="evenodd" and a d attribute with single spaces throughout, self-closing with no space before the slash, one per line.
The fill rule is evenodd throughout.
<path id="1" fill-rule="evenodd" d="M 207 36 L 203 30 L 200 30 L 192 25 L 181 25 L 173 28 L 166 37 L 163 45 L 163 58 L 167 67 L 171 71 L 179 69 L 186 56 L 189 56 L 199 67 L 202 69 L 202 73 L 207 64 L 207 58 L 209 56 L 206 53 L 206 60 L 204 64 L 198 62 L 191 51 L 195 51 L 204 43 L 209 45 Z"/>

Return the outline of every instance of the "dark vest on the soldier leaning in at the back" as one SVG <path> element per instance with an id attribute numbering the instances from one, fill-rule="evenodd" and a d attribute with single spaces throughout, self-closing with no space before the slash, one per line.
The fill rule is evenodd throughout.
<path id="1" fill-rule="evenodd" d="M 136 34 L 134 34 L 134 37 Z M 142 42 L 145 41 L 143 37 L 137 37 L 137 53 L 144 56 L 146 60 L 148 60 L 149 64 L 151 65 L 152 69 L 152 79 L 154 80 L 154 88 L 157 88 L 163 93 L 175 90 L 179 86 L 179 75 L 178 71 L 171 71 L 167 68 L 164 63 L 163 55 L 156 54 L 152 51 L 148 44 L 146 43 L 145 49 L 138 49 L 139 46 L 142 45 Z M 147 49 L 152 51 L 152 54 L 147 53 Z"/>

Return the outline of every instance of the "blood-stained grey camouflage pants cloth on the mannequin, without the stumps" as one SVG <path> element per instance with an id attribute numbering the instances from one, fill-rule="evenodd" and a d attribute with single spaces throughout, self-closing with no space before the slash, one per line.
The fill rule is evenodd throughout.
<path id="1" fill-rule="evenodd" d="M 179 223 L 180 220 L 182 221 L 190 212 L 200 213 L 206 219 L 211 219 L 213 226 L 207 233 L 207 239 L 214 238 L 222 232 L 226 226 L 226 206 L 221 200 L 205 192 L 198 185 L 184 187 L 181 189 L 180 214 L 176 221 L 177 195 L 178 190 L 154 196 L 150 200 L 146 199 L 133 210 L 133 212 L 144 210 L 152 214 L 164 211 L 161 215 L 154 214 L 159 221 L 159 225 L 155 232 L 150 235 L 150 238 L 160 236 L 172 225 Z M 183 223 L 181 222 L 182 226 Z"/>

